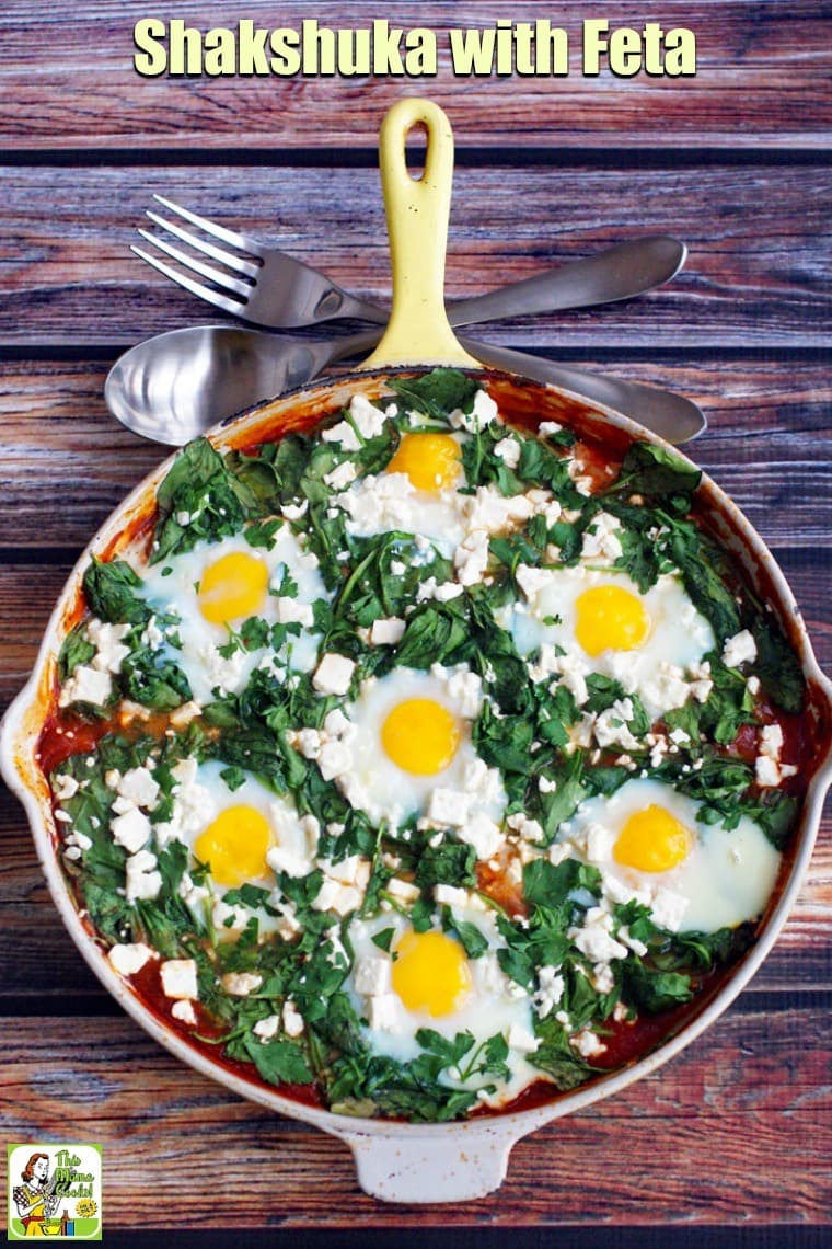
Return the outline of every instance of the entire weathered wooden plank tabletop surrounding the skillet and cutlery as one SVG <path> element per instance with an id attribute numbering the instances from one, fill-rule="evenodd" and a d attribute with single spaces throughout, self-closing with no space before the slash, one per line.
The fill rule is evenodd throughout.
<path id="1" fill-rule="evenodd" d="M 242 14 L 218 7 L 185 0 L 176 15 L 205 30 Z M 611 25 L 644 20 L 631 4 L 604 10 Z M 545 16 L 576 40 L 593 16 L 574 4 L 555 15 L 538 0 L 467 11 L 463 21 L 460 6 L 427 2 L 418 24 L 443 32 Z M 274 25 L 276 12 L 253 0 L 244 15 Z M 308 15 L 279 6 L 282 25 Z M 362 26 L 379 11 L 357 0 L 314 15 Z M 651 17 L 696 31 L 695 80 L 585 79 L 575 59 L 568 79 L 462 80 L 447 55 L 424 81 L 143 80 L 131 67 L 143 16 L 132 0 L 82 0 L 71 16 L 6 0 L 0 16 L 2 707 L 81 547 L 163 453 L 107 415 L 110 363 L 150 333 L 221 320 L 128 252 L 151 194 L 272 239 L 384 300 L 375 136 L 387 106 L 418 92 L 445 106 L 457 134 L 450 297 L 640 232 L 689 245 L 667 290 L 481 332 L 696 400 L 710 427 L 694 453 L 770 543 L 828 667 L 832 176 L 821 5 L 666 0 Z M 328 1245 L 399 1247 L 453 1228 L 478 1247 L 509 1235 L 820 1245 L 832 1224 L 831 897 L 825 824 L 775 952 L 680 1058 L 520 1143 L 494 1195 L 390 1207 L 359 1192 L 344 1147 L 180 1065 L 119 1010 L 71 947 L 4 789 L 2 1135 L 101 1142 L 114 1244 L 326 1235 Z"/>

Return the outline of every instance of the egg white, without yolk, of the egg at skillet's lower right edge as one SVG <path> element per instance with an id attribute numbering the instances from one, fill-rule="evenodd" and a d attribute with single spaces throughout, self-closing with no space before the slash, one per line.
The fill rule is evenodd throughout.
<path id="1" fill-rule="evenodd" d="M 667 872 L 640 872 L 612 857 L 627 819 L 651 804 L 664 807 L 695 838 L 689 856 Z M 733 928 L 765 911 L 781 856 L 748 816 L 727 831 L 721 824 L 701 823 L 696 818 L 699 806 L 660 781 L 634 778 L 610 797 L 581 803 L 561 827 L 559 839 L 571 842 L 581 858 L 601 871 L 607 896 L 611 893 L 616 901 L 630 896 L 651 906 L 660 891 L 669 891 L 686 899 L 681 932 Z"/>

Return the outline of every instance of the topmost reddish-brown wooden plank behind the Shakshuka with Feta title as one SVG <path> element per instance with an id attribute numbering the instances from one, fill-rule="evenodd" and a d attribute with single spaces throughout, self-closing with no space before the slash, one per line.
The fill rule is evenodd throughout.
<path id="1" fill-rule="evenodd" d="M 0 140 L 7 147 L 61 149 L 143 146 L 170 151 L 193 147 L 374 147 L 378 119 L 413 85 L 392 77 L 141 79 L 132 71 L 133 24 L 150 14 L 137 0 L 89 0 L 60 9 L 39 0 L 6 0 L 2 19 L 4 76 L 9 104 L 0 111 Z M 298 29 L 314 16 L 321 26 L 369 27 L 389 17 L 404 29 L 428 26 L 438 34 L 435 77 L 413 82 L 453 107 L 460 145 L 545 147 L 760 146 L 828 149 L 828 30 L 823 6 L 795 2 L 664 0 L 661 7 L 616 2 L 597 12 L 579 5 L 523 6 L 478 2 L 462 7 L 424 2 L 417 9 L 369 0 L 308 5 L 292 0 L 276 9 L 249 0 L 244 14 L 217 11 L 202 0 L 182 0 L 170 16 L 203 32 L 256 25 Z M 222 20 L 221 20 L 222 17 Z M 449 26 L 493 26 L 499 19 L 549 19 L 566 29 L 568 77 L 455 77 L 447 54 Z M 641 30 L 660 20 L 665 30 L 691 29 L 697 36 L 695 79 L 616 79 L 581 75 L 580 39 L 585 17 L 609 17 L 614 26 Z M 252 107 L 256 95 L 257 107 Z M 483 125 L 483 119 L 488 119 Z"/>

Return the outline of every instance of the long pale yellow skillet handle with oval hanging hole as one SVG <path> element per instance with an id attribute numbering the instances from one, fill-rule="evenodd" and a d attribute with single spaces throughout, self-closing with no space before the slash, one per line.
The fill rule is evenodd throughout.
<path id="1" fill-rule="evenodd" d="M 420 179 L 410 177 L 404 142 L 413 126 L 428 130 Z M 375 351 L 360 366 L 463 365 L 480 367 L 459 345 L 445 315 L 445 244 L 454 170 L 450 122 L 430 100 L 399 100 L 382 122 L 379 162 L 393 270 L 393 310 Z"/>

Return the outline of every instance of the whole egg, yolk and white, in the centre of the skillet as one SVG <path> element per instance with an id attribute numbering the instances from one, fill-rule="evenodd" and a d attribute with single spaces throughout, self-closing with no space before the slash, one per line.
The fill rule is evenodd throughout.
<path id="1" fill-rule="evenodd" d="M 468 669 L 395 668 L 363 682 L 357 701 L 344 708 L 353 806 L 398 827 L 430 811 L 437 791 L 449 791 L 465 799 L 467 819 L 499 823 L 505 791 L 472 741 L 480 706 L 481 683 Z"/>

